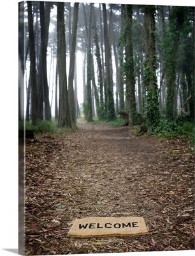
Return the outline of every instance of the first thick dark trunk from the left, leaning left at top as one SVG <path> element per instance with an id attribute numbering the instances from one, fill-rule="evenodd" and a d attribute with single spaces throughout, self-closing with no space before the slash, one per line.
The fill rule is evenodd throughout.
<path id="1" fill-rule="evenodd" d="M 34 29 L 33 29 L 33 17 L 32 17 L 32 2 L 27 1 L 28 9 L 28 25 L 29 25 L 29 48 L 30 48 L 30 58 L 31 58 L 31 109 L 32 109 L 32 125 L 36 125 L 36 120 L 38 119 L 38 97 L 36 90 L 36 58 L 34 50 Z"/>

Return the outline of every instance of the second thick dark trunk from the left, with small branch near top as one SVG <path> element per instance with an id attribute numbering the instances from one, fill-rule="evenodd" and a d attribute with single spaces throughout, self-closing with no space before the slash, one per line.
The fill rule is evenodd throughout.
<path id="1" fill-rule="evenodd" d="M 42 64 L 42 72 L 43 72 L 45 119 L 51 120 L 52 115 L 51 115 L 51 109 L 50 109 L 48 81 L 47 81 L 47 44 L 48 44 L 48 26 L 50 22 L 50 19 L 46 19 L 46 16 L 48 15 L 48 13 L 50 13 L 50 8 L 48 8 L 47 12 L 45 12 L 44 2 L 40 2 L 41 60 L 42 60 L 41 64 Z"/>

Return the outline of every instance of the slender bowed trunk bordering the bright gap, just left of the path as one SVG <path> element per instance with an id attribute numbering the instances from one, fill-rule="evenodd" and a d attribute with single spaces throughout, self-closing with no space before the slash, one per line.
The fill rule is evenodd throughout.
<path id="1" fill-rule="evenodd" d="M 75 109 L 75 93 L 73 87 L 74 71 L 75 71 L 75 52 L 76 52 L 76 31 L 78 24 L 78 7 L 79 3 L 75 3 L 73 12 L 73 29 L 71 35 L 71 53 L 69 61 L 69 76 L 68 76 L 68 96 L 69 96 L 69 111 L 71 122 L 76 123 Z"/>

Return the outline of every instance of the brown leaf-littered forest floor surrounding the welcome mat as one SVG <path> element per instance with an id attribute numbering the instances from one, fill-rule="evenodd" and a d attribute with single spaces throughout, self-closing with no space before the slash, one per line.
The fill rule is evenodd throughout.
<path id="1" fill-rule="evenodd" d="M 194 250 L 194 156 L 187 141 L 78 122 L 25 145 L 25 255 Z M 75 218 L 141 216 L 148 235 L 67 237 Z"/>

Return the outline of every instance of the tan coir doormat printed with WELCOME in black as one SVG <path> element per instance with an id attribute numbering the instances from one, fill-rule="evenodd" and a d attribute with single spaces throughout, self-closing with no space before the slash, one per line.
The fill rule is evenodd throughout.
<path id="1" fill-rule="evenodd" d="M 89 217 L 76 219 L 68 237 L 109 237 L 147 235 L 148 230 L 142 217 Z"/>

